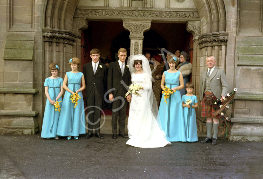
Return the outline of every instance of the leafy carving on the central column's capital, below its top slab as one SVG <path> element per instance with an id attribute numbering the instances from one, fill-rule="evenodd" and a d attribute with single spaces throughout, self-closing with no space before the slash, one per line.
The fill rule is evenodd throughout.
<path id="1" fill-rule="evenodd" d="M 150 28 L 150 23 L 123 23 L 125 29 L 130 31 L 131 35 L 142 35 L 143 32 Z"/>

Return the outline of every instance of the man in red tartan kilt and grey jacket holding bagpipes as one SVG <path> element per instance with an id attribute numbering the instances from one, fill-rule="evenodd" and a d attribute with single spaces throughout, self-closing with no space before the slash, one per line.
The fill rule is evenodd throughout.
<path id="1" fill-rule="evenodd" d="M 201 73 L 200 78 L 200 105 L 202 106 L 202 117 L 206 117 L 206 129 L 207 137 L 201 143 L 212 142 L 211 145 L 217 145 L 217 133 L 219 128 L 219 118 L 220 116 L 214 116 L 213 105 L 209 105 L 209 102 L 213 102 L 215 99 L 221 99 L 226 96 L 228 92 L 228 84 L 225 77 L 225 72 L 222 69 L 215 67 L 216 60 L 215 57 L 210 55 L 206 57 L 207 70 Z M 206 97 L 206 103 L 205 103 Z M 212 99 L 212 101 L 209 101 Z M 211 104 L 210 103 L 210 104 Z M 214 135 L 212 138 L 212 127 L 214 129 Z"/>

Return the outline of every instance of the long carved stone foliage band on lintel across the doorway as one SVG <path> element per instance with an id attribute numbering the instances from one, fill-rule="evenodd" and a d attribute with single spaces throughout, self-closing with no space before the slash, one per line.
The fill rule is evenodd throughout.
<path id="1" fill-rule="evenodd" d="M 128 18 L 200 18 L 198 12 L 181 11 L 151 11 L 151 10 L 97 10 L 76 9 L 74 16 L 104 16 L 104 17 L 128 17 Z"/>

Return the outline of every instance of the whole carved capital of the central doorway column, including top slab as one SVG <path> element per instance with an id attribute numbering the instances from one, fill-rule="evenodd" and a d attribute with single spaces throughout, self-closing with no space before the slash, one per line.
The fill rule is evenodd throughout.
<path id="1" fill-rule="evenodd" d="M 142 36 L 144 32 L 150 30 L 151 21 L 123 21 L 123 27 L 130 31 L 130 37 Z"/>

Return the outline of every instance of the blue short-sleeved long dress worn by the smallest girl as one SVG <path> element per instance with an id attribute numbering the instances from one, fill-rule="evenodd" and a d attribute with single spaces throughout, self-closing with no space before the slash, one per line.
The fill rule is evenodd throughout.
<path id="1" fill-rule="evenodd" d="M 196 142 L 197 139 L 197 126 L 196 126 L 196 116 L 195 116 L 195 108 L 192 108 L 194 103 L 198 103 L 197 97 L 193 96 L 182 96 L 182 102 L 186 104 L 186 100 L 192 100 L 191 108 L 183 107 L 183 117 L 184 117 L 184 126 L 185 126 L 185 134 L 187 142 Z"/>

